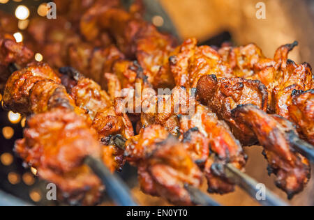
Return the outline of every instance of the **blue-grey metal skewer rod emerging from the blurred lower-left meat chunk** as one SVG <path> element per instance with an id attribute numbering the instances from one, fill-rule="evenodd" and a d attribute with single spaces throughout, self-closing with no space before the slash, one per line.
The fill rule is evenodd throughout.
<path id="1" fill-rule="evenodd" d="M 121 206 L 137 206 L 137 203 L 130 196 L 130 190 L 126 184 L 117 175 L 112 174 L 103 162 L 87 156 L 84 164 L 87 164 L 98 175 L 98 178 L 100 178 L 107 189 L 107 194 L 114 203 Z"/>

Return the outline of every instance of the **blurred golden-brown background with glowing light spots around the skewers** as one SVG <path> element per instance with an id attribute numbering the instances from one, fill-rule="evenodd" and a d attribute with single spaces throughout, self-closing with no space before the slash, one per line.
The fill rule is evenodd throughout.
<path id="1" fill-rule="evenodd" d="M 269 57 L 274 56 L 279 46 L 297 40 L 299 47 L 294 49 L 290 58 L 297 63 L 314 63 L 313 0 L 143 1 L 147 6 L 147 19 L 161 30 L 170 31 L 179 40 L 196 37 L 201 44 L 218 47 L 225 41 L 230 41 L 234 45 L 255 42 Z M 30 17 L 45 16 L 47 13 L 45 2 L 48 1 L 0 0 L 0 12 L 11 13 L 16 17 L 27 15 L 26 19 L 23 17 L 17 24 L 22 31 L 27 28 Z M 266 19 L 256 17 L 258 2 L 263 2 L 266 6 Z M 40 54 L 37 56 L 38 60 L 43 59 Z M 20 159 L 14 157 L 12 152 L 14 141 L 22 137 L 24 123 L 24 118 L 19 114 L 0 109 L 0 189 L 37 205 L 62 205 L 45 201 L 44 182 L 37 180 L 36 170 L 24 168 Z M 245 150 L 249 156 L 247 173 L 285 199 L 285 194 L 274 185 L 274 178 L 267 175 L 267 163 L 262 156 L 262 148 L 254 146 Z M 134 174 L 135 170 L 127 167 L 121 176 L 128 181 L 134 196 L 142 205 L 169 205 L 160 198 L 142 194 L 137 187 Z M 258 205 L 241 189 L 232 194 L 213 197 L 223 205 Z M 306 189 L 289 203 L 314 205 L 313 178 Z M 112 204 L 108 202 L 103 205 Z"/>

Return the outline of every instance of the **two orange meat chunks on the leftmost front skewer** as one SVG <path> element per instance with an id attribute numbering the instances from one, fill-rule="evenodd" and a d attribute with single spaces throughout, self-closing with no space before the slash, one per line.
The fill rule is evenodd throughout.
<path id="1" fill-rule="evenodd" d="M 16 142 L 15 151 L 27 165 L 38 169 L 41 178 L 56 183 L 70 201 L 91 205 L 98 202 L 102 187 L 82 160 L 87 155 L 100 158 L 102 148 L 96 131 L 80 116 L 82 109 L 75 107 L 59 82 L 45 64 L 17 71 L 6 84 L 3 107 L 38 113 L 27 121 L 24 139 Z"/>

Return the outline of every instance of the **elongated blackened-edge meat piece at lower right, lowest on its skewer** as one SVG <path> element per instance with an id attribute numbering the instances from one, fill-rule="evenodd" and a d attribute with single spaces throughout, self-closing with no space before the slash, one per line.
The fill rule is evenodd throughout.
<path id="1" fill-rule="evenodd" d="M 302 191 L 311 174 L 308 160 L 293 150 L 290 133 L 297 136 L 292 123 L 281 116 L 270 116 L 253 105 L 242 105 L 232 111 L 232 118 L 252 129 L 269 162 L 269 173 L 276 175 L 276 185 L 292 198 Z"/>

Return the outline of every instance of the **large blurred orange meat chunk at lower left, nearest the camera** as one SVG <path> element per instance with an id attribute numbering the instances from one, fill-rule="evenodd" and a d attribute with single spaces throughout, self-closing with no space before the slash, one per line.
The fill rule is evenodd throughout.
<path id="1" fill-rule="evenodd" d="M 94 191 L 93 201 L 82 201 L 84 205 L 98 202 L 100 180 L 82 162 L 87 155 L 100 158 L 102 152 L 96 131 L 85 119 L 56 109 L 32 116 L 27 125 L 24 139 L 15 143 L 15 152 L 24 162 L 35 167 L 40 178 L 57 184 L 63 193 Z"/>

